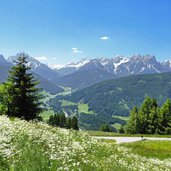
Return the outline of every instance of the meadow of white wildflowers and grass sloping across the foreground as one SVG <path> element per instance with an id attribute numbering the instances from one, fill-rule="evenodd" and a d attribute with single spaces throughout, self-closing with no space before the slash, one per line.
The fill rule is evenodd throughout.
<path id="1" fill-rule="evenodd" d="M 1 171 L 170 171 L 171 159 L 133 154 L 82 131 L 0 116 Z"/>

